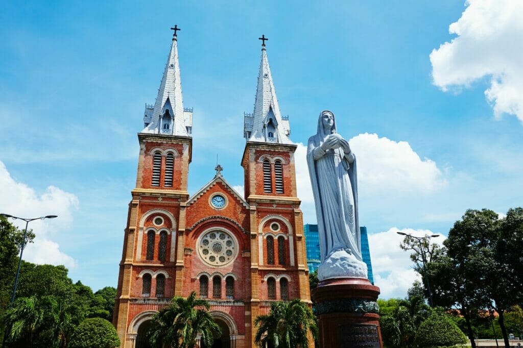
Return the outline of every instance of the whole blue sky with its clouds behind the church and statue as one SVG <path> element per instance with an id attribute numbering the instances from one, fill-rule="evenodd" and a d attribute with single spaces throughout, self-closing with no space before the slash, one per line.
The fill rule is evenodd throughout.
<path id="1" fill-rule="evenodd" d="M 169 28 L 182 29 L 184 104 L 194 107 L 190 193 L 213 177 L 217 153 L 225 178 L 243 183 L 243 112 L 253 109 L 263 33 L 291 139 L 306 143 L 329 109 L 360 154 L 360 220 L 377 285 L 404 296 L 414 278 L 396 229 L 445 235 L 467 208 L 521 205 L 523 73 L 510 43 L 523 12 L 507 19 L 499 4 L 518 6 L 3 2 L 0 210 L 59 213 L 34 225 L 41 240 L 26 259 L 65 263 L 95 290 L 116 286 L 136 134 L 160 85 Z M 300 168 L 304 221 L 313 223 Z"/>

